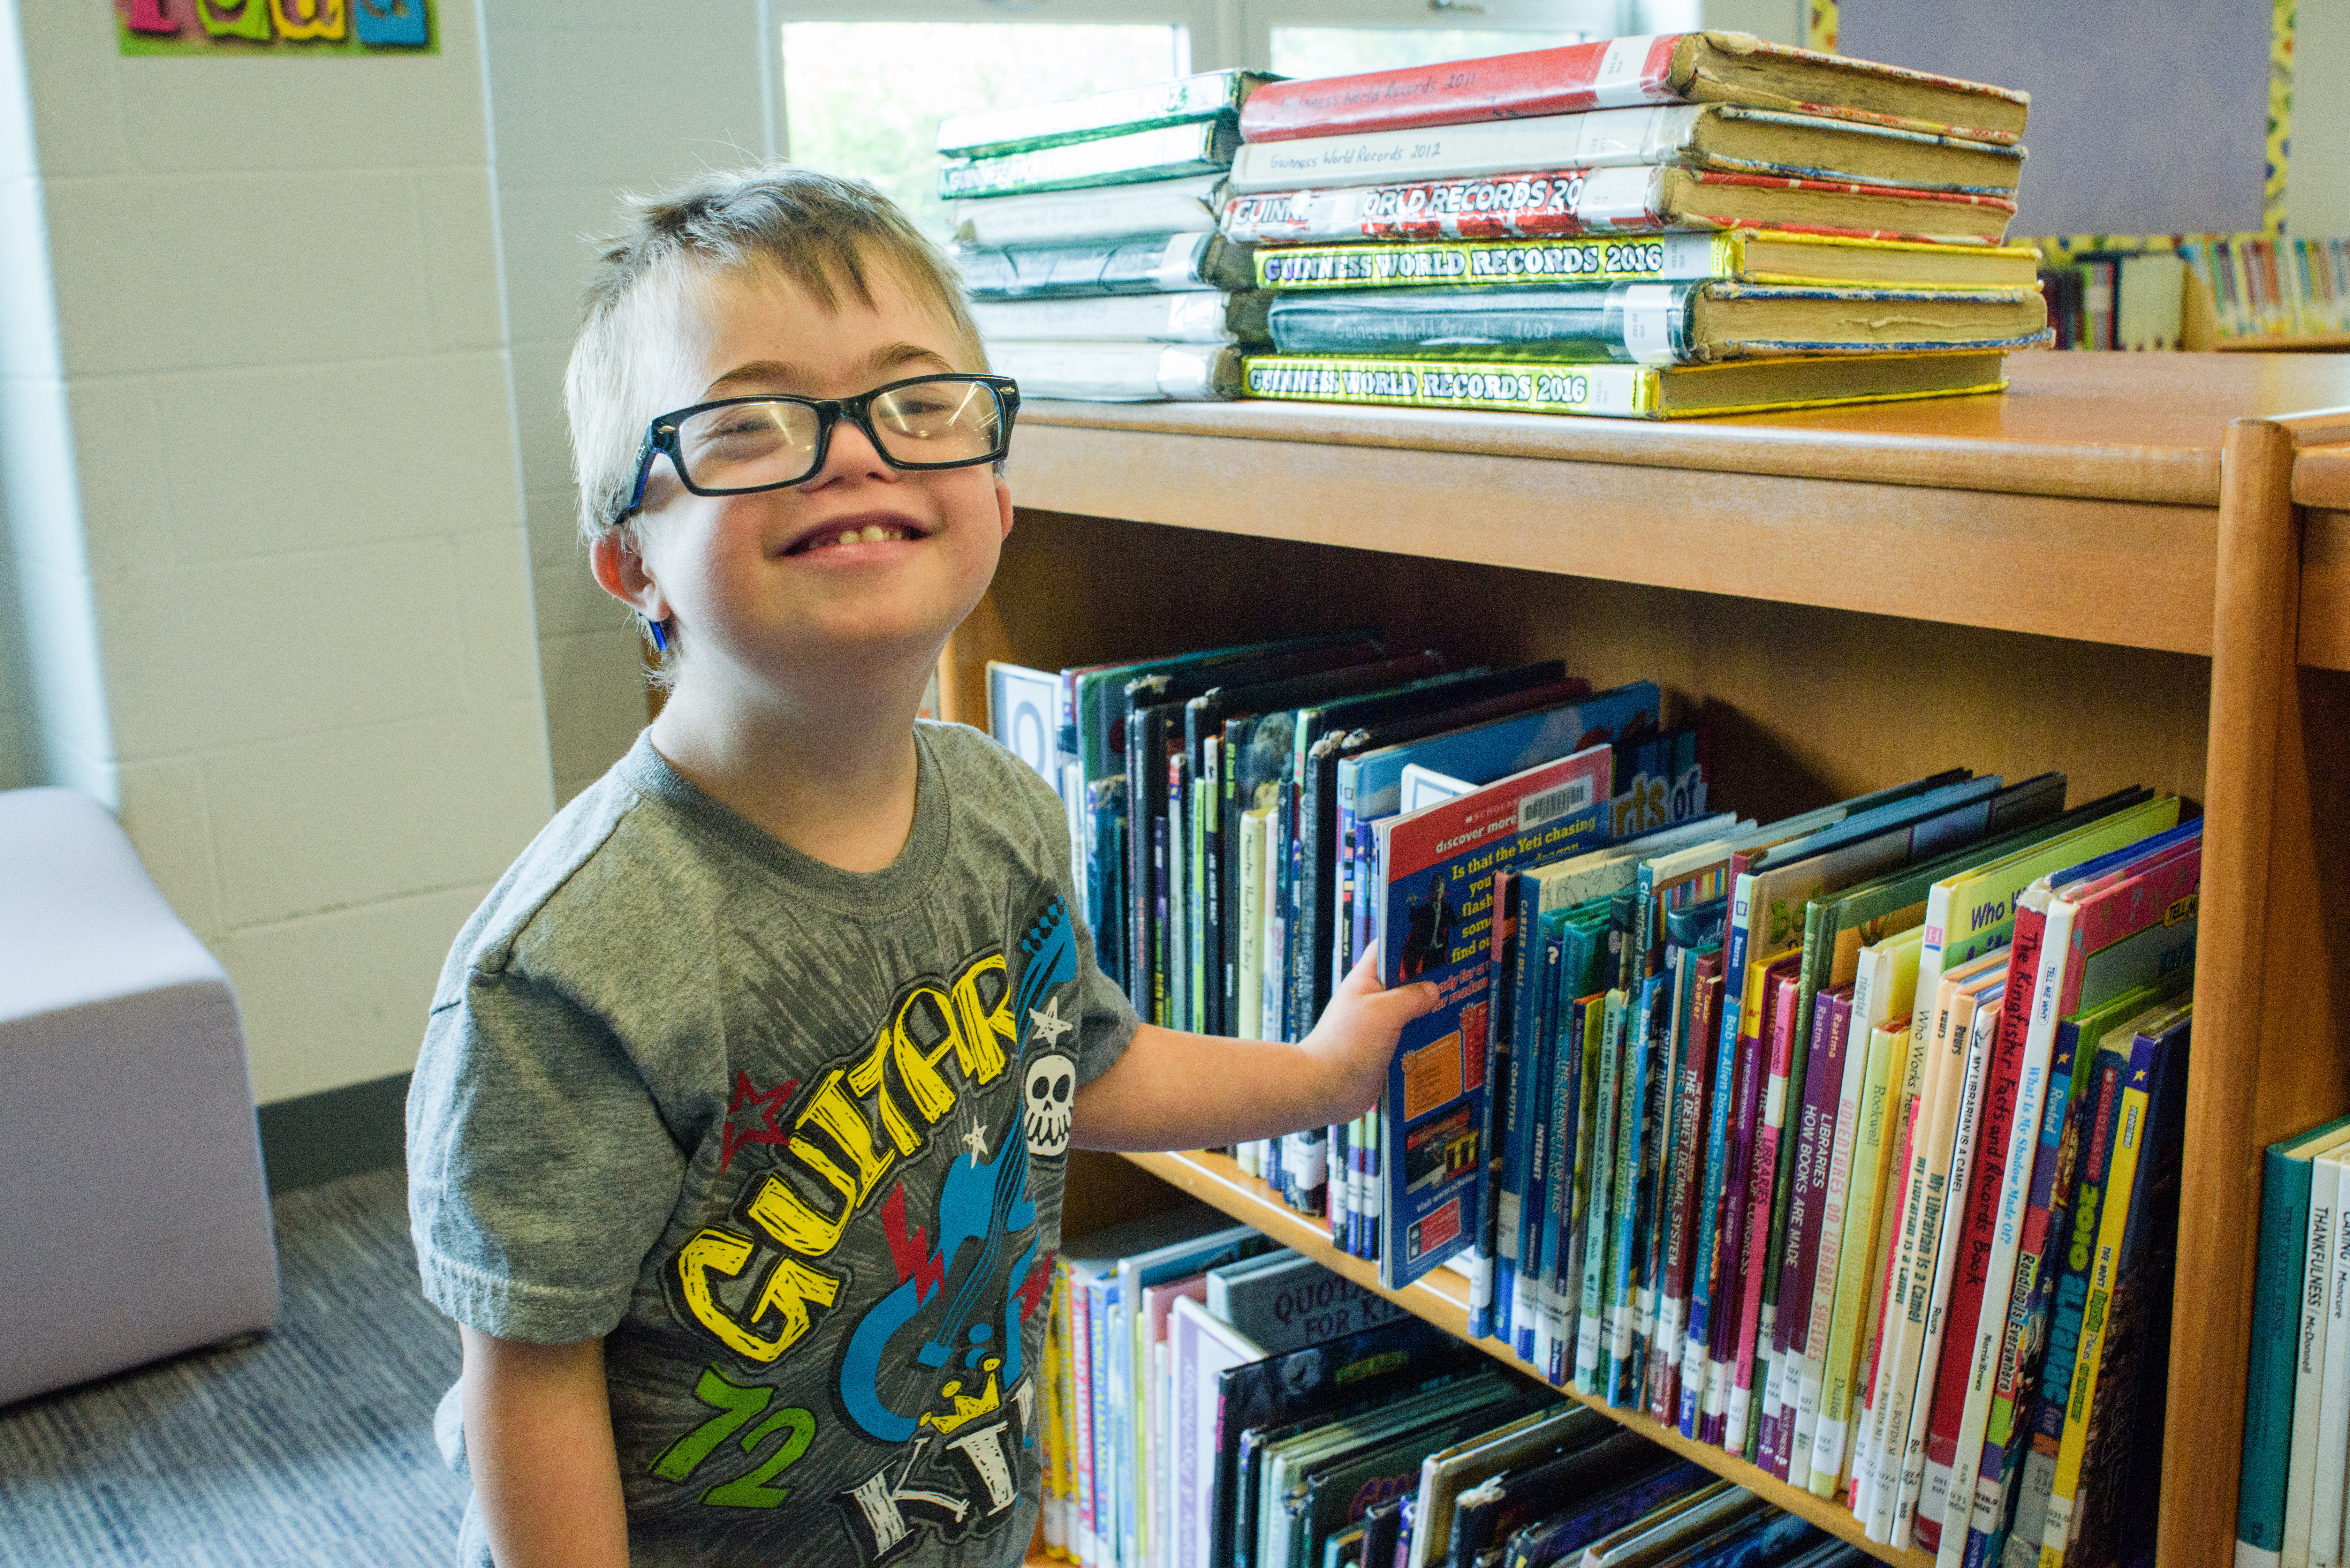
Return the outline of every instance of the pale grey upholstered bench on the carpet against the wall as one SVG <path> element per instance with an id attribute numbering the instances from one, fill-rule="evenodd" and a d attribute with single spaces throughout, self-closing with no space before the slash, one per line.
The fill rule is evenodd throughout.
<path id="1" fill-rule="evenodd" d="M 101 806 L 0 792 L 0 1403 L 275 1321 L 228 976 Z"/>

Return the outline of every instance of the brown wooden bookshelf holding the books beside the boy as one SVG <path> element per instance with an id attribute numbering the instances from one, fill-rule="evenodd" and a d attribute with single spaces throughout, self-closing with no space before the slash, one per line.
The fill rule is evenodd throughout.
<path id="1" fill-rule="evenodd" d="M 2016 355 L 2009 378 L 2002 397 L 1668 425 L 1029 404 L 1022 512 L 942 701 L 985 722 L 987 658 L 1377 623 L 1462 661 L 1659 679 L 1713 726 L 1718 799 L 1758 816 L 1950 764 L 2200 804 L 2169 1373 L 2193 1420 L 2169 1422 L 2160 1559 L 2218 1568 L 2258 1150 L 2350 1107 L 2350 360 Z M 1065 1227 L 1177 1190 L 1316 1237 L 1231 1166 L 1161 1154 L 1074 1166 Z M 1441 1286 L 1405 1305 L 1457 1331 Z"/>

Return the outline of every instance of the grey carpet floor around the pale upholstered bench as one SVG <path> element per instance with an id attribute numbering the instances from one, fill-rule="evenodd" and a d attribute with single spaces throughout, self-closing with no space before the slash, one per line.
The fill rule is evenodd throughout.
<path id="1" fill-rule="evenodd" d="M 0 1568 L 446 1568 L 465 1483 L 432 1448 L 456 1326 L 425 1305 L 407 1178 L 275 1204 L 263 1340 L 0 1408 Z"/>

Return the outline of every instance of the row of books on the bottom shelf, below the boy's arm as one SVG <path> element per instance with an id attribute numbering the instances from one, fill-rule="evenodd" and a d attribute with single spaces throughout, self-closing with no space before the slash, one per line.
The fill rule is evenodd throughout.
<path id="1" fill-rule="evenodd" d="M 1067 1244 L 1041 1387 L 1086 1568 L 1868 1561 L 1206 1208 Z"/>

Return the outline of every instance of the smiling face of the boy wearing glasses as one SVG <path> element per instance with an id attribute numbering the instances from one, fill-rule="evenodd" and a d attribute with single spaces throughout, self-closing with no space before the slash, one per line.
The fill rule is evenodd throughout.
<path id="1" fill-rule="evenodd" d="M 780 275 L 710 277 L 700 308 L 679 313 L 684 343 L 660 407 L 754 393 L 853 397 L 975 369 L 891 268 L 867 266 L 867 284 L 872 303 L 841 287 L 837 310 L 825 310 Z M 639 524 L 649 614 L 674 616 L 682 682 L 698 665 L 754 686 L 914 675 L 980 602 L 1010 527 L 1010 491 L 987 463 L 905 473 L 851 418 L 834 423 L 822 468 L 787 489 L 696 496 L 656 456 Z M 844 534 L 855 543 L 839 543 Z"/>

